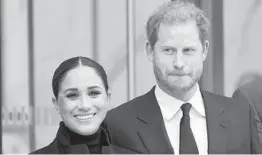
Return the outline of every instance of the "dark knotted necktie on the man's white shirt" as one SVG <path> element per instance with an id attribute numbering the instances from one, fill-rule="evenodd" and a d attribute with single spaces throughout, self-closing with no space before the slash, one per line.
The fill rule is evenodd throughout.
<path id="1" fill-rule="evenodd" d="M 190 127 L 189 112 L 191 107 L 190 103 L 185 103 L 181 106 L 183 117 L 180 121 L 180 154 L 198 154 L 196 141 Z"/>

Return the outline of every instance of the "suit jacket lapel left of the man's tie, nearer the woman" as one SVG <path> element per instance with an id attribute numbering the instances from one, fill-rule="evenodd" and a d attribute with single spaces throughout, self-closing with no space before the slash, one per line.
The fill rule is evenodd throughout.
<path id="1" fill-rule="evenodd" d="M 137 119 L 140 124 L 138 136 L 148 153 L 174 153 L 170 144 L 154 88 L 137 104 Z"/>

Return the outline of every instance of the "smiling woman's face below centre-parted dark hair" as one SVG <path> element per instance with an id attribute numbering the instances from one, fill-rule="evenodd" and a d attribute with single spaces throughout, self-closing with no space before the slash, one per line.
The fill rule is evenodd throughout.
<path id="1" fill-rule="evenodd" d="M 93 68 L 79 66 L 67 72 L 53 102 L 69 129 L 92 135 L 105 119 L 109 95 Z"/>

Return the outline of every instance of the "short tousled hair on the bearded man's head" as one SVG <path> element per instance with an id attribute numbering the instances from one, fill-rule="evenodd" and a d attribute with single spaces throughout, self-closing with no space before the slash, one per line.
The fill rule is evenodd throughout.
<path id="1" fill-rule="evenodd" d="M 148 19 L 146 25 L 147 39 L 152 48 L 158 40 L 161 24 L 179 24 L 195 20 L 199 30 L 199 37 L 204 43 L 208 35 L 209 20 L 200 8 L 189 1 L 175 0 L 160 6 Z"/>

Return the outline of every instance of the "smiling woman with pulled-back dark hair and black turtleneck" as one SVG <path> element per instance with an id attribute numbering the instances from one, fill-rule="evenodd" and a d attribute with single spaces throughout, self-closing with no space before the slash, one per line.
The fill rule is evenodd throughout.
<path id="1" fill-rule="evenodd" d="M 110 145 L 103 122 L 110 92 L 101 65 L 86 57 L 68 59 L 56 69 L 52 87 L 62 122 L 54 141 L 33 154 L 131 153 Z"/>

